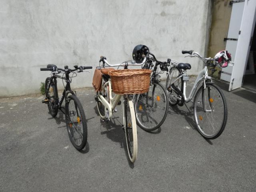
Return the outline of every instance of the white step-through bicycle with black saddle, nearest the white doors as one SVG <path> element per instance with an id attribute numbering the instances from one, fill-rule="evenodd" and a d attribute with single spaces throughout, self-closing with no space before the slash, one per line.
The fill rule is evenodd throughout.
<path id="1" fill-rule="evenodd" d="M 212 81 L 212 78 L 208 76 L 207 66 L 212 67 L 210 70 L 214 73 L 216 71 L 215 67 L 220 66 L 218 60 L 223 57 L 223 54 L 214 58 L 203 58 L 193 50 L 182 51 L 182 54 L 190 54 L 190 57 L 198 57 L 204 62 L 205 66 L 199 72 L 187 98 L 186 84 L 189 76 L 186 71 L 191 69 L 191 65 L 188 63 L 177 64 L 176 62 L 172 62 L 166 80 L 169 104 L 172 106 L 176 104 L 183 106 L 184 103 L 188 103 L 194 99 L 194 121 L 198 132 L 204 138 L 215 139 L 224 131 L 228 118 L 228 109 L 224 94 Z M 228 62 L 230 61 L 228 60 Z M 201 82 L 202 86 L 198 88 Z"/>

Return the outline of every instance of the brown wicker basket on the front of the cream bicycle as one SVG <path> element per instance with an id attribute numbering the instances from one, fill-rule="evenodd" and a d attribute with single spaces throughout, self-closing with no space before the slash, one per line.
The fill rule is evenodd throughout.
<path id="1" fill-rule="evenodd" d="M 108 72 L 115 94 L 140 94 L 148 92 L 151 70 L 122 69 Z"/>

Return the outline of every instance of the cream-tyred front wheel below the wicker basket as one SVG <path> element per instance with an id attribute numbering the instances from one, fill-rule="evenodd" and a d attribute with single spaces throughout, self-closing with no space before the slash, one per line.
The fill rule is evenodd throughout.
<path id="1" fill-rule="evenodd" d="M 124 130 L 126 136 L 126 145 L 130 161 L 133 163 L 137 158 L 138 142 L 135 112 L 132 100 L 124 100 Z"/>

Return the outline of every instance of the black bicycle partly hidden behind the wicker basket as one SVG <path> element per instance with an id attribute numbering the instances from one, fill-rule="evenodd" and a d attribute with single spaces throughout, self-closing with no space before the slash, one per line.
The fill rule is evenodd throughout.
<path id="1" fill-rule="evenodd" d="M 135 95 L 134 107 L 138 126 L 149 132 L 159 128 L 167 116 L 168 94 L 159 80 L 159 74 L 164 73 L 164 71 L 168 72 L 168 66 L 171 60 L 168 59 L 167 62 L 160 62 L 148 49 L 146 49 L 146 57 L 147 60 L 144 66 L 142 66 L 142 69 L 152 70 L 154 67 L 150 77 L 150 88 L 146 93 Z M 155 65 L 153 62 L 155 62 Z M 158 72 L 158 66 L 160 66 L 160 72 Z"/>

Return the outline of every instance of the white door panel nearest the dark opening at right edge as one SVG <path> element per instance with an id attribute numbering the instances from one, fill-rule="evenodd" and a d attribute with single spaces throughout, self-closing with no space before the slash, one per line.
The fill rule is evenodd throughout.
<path id="1" fill-rule="evenodd" d="M 234 66 L 229 84 L 229 91 L 242 86 L 242 80 L 248 61 L 250 44 L 256 22 L 256 0 L 245 0 L 240 35 L 237 42 L 236 54 L 233 57 Z"/>

